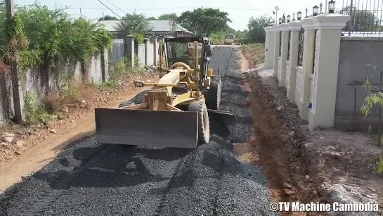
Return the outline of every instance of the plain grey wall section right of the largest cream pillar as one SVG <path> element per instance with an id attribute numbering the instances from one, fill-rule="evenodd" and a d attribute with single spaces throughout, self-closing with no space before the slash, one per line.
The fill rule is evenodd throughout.
<path id="1" fill-rule="evenodd" d="M 372 106 L 371 114 L 364 117 L 361 107 L 369 92 L 363 87 L 368 78 L 379 87 L 383 70 L 383 39 L 377 37 L 342 37 L 339 51 L 335 126 L 347 130 L 377 129 L 379 106 Z"/>

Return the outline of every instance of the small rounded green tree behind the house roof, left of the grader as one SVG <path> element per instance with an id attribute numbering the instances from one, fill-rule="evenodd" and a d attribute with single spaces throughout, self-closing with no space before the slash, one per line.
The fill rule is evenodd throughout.
<path id="1" fill-rule="evenodd" d="M 143 34 L 145 35 L 149 32 L 152 27 L 150 27 L 148 20 L 145 18 L 145 15 L 137 14 L 136 12 L 130 14 L 126 13 L 121 19 L 121 21 L 116 26 L 119 32 L 124 34 Z"/>

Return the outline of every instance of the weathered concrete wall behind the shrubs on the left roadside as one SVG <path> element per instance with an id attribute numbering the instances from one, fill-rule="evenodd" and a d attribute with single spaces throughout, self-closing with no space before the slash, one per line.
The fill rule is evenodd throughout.
<path id="1" fill-rule="evenodd" d="M 48 94 L 57 94 L 58 89 L 68 77 L 74 77 L 79 82 L 92 82 L 100 84 L 109 78 L 110 65 L 115 65 L 124 58 L 128 58 L 134 66 L 138 58 L 140 66 L 155 65 L 158 61 L 158 37 L 145 39 L 144 44 L 135 45 L 134 39 L 127 36 L 125 39 L 113 39 L 113 48 L 92 56 L 89 65 L 80 62 L 63 63 L 55 69 L 44 70 L 42 67 L 30 68 L 20 72 L 20 110 L 25 120 L 25 100 L 27 95 L 37 96 L 37 103 L 41 103 Z M 135 49 L 137 47 L 137 49 Z M 20 69 L 21 70 L 21 69 Z M 0 125 L 6 125 L 14 117 L 15 106 L 11 74 L 0 71 Z"/>

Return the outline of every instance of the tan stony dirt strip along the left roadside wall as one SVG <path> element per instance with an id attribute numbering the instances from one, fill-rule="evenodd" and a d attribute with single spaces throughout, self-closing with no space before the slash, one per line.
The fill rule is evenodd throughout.
<path id="1" fill-rule="evenodd" d="M 63 148 L 72 140 L 72 136 L 93 131 L 94 129 L 94 108 L 116 107 L 126 100 L 126 96 L 135 95 L 142 89 L 134 87 L 134 80 L 145 80 L 156 82 L 158 75 L 153 68 L 145 68 L 143 75 L 131 75 L 124 77 L 117 88 L 98 88 L 84 86 L 79 89 L 82 98 L 74 104 L 65 104 L 61 108 L 57 120 L 41 122 L 32 125 L 7 125 L 0 127 L 0 172 L 8 169 L 6 165 L 14 163 L 25 151 L 60 142 L 55 147 Z M 55 151 L 59 153 L 59 149 Z M 39 154 L 37 153 L 34 153 Z M 27 155 L 34 157 L 34 155 Z M 50 158 L 46 158 L 50 159 Z M 20 177 L 19 177 L 20 178 Z M 6 179 L 0 179 L 0 184 Z M 4 187 L 0 186 L 0 191 Z"/>

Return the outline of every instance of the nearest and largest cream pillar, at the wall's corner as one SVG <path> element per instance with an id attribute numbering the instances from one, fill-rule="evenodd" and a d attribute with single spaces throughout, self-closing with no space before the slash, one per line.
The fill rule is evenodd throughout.
<path id="1" fill-rule="evenodd" d="M 316 54 L 311 88 L 309 129 L 333 127 L 341 30 L 349 15 L 325 13 L 312 18 L 316 29 Z"/>

